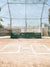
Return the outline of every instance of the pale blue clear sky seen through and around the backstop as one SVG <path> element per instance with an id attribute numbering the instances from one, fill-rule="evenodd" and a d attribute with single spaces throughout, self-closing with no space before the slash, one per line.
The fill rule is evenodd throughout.
<path id="1" fill-rule="evenodd" d="M 40 3 L 42 3 L 44 0 L 42 0 Z M 0 0 L 0 7 L 2 7 L 7 0 Z M 10 3 L 25 3 L 25 0 L 9 0 Z M 33 3 L 38 2 L 37 0 L 26 0 L 27 3 Z M 50 5 L 50 0 L 47 1 L 48 5 Z M 10 11 L 12 18 L 22 18 L 20 19 L 12 19 L 12 26 L 25 26 L 25 4 L 10 4 Z M 27 19 L 27 25 L 39 25 L 40 24 L 40 17 L 42 12 L 43 4 L 27 4 L 26 5 L 26 18 Z M 43 12 L 43 23 L 49 23 L 48 22 L 48 9 L 50 6 L 45 5 L 44 12 Z M 9 17 L 9 10 L 8 5 L 6 4 L 4 7 L 2 7 L 2 10 L 0 12 L 1 17 Z M 32 19 L 32 18 L 38 18 L 38 19 Z M 10 19 L 2 18 L 4 22 L 1 22 L 3 25 L 8 25 L 10 23 Z"/>

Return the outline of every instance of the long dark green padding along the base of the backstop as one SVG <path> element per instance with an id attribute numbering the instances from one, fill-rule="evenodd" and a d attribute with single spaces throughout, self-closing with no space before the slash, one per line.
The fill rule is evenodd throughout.
<path id="1" fill-rule="evenodd" d="M 11 38 L 41 38 L 41 33 L 11 33 Z"/>

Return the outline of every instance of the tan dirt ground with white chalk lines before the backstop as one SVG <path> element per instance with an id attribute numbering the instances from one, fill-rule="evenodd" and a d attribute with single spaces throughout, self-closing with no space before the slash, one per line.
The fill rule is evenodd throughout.
<path id="1" fill-rule="evenodd" d="M 50 67 L 50 38 L 0 39 L 0 67 Z"/>

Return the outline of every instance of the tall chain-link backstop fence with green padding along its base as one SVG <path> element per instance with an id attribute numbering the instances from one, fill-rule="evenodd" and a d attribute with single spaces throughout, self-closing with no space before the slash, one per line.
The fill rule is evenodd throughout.
<path id="1" fill-rule="evenodd" d="M 12 38 L 50 35 L 48 26 L 43 27 L 49 24 L 49 0 L 1 0 L 0 7 L 1 24 Z"/>

